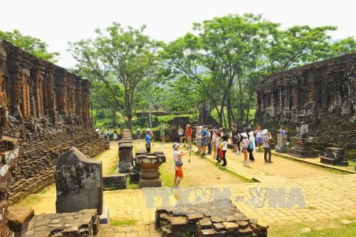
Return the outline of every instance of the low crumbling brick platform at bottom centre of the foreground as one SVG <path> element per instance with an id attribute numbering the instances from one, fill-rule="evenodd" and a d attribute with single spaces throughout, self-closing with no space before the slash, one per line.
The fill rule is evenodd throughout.
<path id="1" fill-rule="evenodd" d="M 157 209 L 162 236 L 267 236 L 268 224 L 250 220 L 236 206 Z"/>

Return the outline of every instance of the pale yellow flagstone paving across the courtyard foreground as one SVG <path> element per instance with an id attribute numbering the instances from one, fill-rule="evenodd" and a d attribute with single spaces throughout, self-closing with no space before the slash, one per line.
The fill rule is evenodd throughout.
<path id="1" fill-rule="evenodd" d="M 155 144 L 155 148 L 158 149 L 159 144 Z M 232 157 L 233 155 L 237 158 Z M 106 158 L 103 157 L 103 159 Z M 192 159 L 204 161 L 204 158 L 199 158 L 195 154 L 192 154 Z M 262 182 L 219 185 L 216 187 L 220 191 L 223 191 L 223 188 L 228 191 L 232 202 L 249 218 L 266 221 L 271 223 L 272 227 L 273 224 L 286 222 L 318 222 L 325 219 L 348 217 L 355 219 L 356 174 L 337 174 L 315 169 L 314 178 L 295 179 L 294 175 L 282 177 L 278 176 L 276 171 L 273 171 L 273 174 L 268 174 L 253 169 L 254 163 L 251 164 L 251 167 L 244 167 L 239 159 L 242 159 L 242 156 L 240 158 L 236 154 L 228 154 L 229 169 L 241 174 L 244 173 L 246 177 L 259 177 Z M 256 162 L 263 160 L 259 154 L 256 155 L 256 159 Z M 292 162 L 291 164 L 295 164 L 295 169 L 302 169 L 298 162 L 280 159 L 281 161 L 276 158 L 271 167 L 274 165 L 277 167 L 278 162 Z M 308 164 L 303 164 L 303 166 L 307 167 L 305 169 L 309 169 Z M 271 169 L 271 167 L 268 168 Z M 214 167 L 214 164 L 211 164 L 211 169 L 217 168 Z M 281 167 L 278 169 L 281 169 Z M 286 167 L 286 169 L 290 168 Z M 313 169 L 310 169 L 310 171 L 313 171 Z M 310 174 L 306 175 L 306 177 L 308 176 Z M 271 179 L 271 177 L 273 178 Z M 201 177 L 201 184 L 203 183 L 209 184 L 209 181 Z M 153 206 L 147 206 L 147 196 L 149 196 L 145 194 L 147 190 L 155 192 Z M 192 203 L 197 200 L 207 201 L 212 198 L 211 186 L 197 187 L 197 189 L 188 187 L 181 190 L 165 188 L 105 191 L 104 205 L 110 207 L 110 217 L 114 220 L 131 220 L 134 221 L 135 225 L 103 225 L 101 236 L 159 236 L 155 231 L 154 223 L 155 208 L 162 206 L 162 198 L 158 195 L 162 191 L 169 194 L 167 203 L 169 206 L 177 204 L 177 199 L 184 195 L 182 192 L 189 195 L 189 201 Z M 279 192 L 279 196 L 277 192 Z M 291 194 L 298 195 L 293 196 Z M 54 213 L 56 211 L 56 188 L 54 185 L 35 195 L 38 196 L 32 196 L 32 200 L 25 200 L 19 205 L 32 206 L 35 214 Z M 163 199 L 163 201 L 165 200 Z M 280 206 L 273 207 L 273 204 L 276 203 Z M 287 204 L 291 204 L 291 206 L 286 207 Z"/>

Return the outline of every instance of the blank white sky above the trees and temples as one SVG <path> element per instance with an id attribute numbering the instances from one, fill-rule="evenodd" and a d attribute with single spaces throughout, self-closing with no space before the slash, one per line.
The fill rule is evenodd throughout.
<path id="1" fill-rule="evenodd" d="M 325 26 L 338 29 L 333 39 L 356 36 L 356 1 L 352 0 L 0 0 L 0 31 L 18 29 L 41 38 L 49 51 L 58 51 L 58 65 L 70 68 L 75 59 L 68 42 L 93 38 L 95 28 L 112 22 L 138 28 L 161 41 L 173 41 L 191 31 L 192 23 L 226 14 L 262 14 L 281 23 Z"/>

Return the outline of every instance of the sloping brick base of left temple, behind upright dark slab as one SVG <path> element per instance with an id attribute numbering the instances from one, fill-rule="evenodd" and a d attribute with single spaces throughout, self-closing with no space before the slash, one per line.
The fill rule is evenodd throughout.
<path id="1" fill-rule="evenodd" d="M 93 157 L 103 152 L 105 143 L 92 130 L 78 131 L 73 135 L 57 135 L 37 143 L 23 142 L 16 169 L 12 172 L 14 181 L 9 203 L 15 204 L 53 183 L 57 158 L 70 147 L 77 147 L 84 154 Z"/>

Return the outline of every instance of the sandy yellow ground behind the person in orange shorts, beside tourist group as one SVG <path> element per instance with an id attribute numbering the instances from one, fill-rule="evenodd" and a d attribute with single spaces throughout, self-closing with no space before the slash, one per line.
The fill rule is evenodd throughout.
<path id="1" fill-rule="evenodd" d="M 144 143 L 142 141 L 135 141 L 136 149 L 143 149 Z M 183 147 L 182 151 L 185 151 Z M 166 163 L 159 167 L 164 186 L 173 186 L 174 179 L 174 162 L 172 143 L 162 145 L 155 142 L 154 151 L 162 151 L 166 155 Z M 205 158 L 197 156 L 194 152 L 191 153 L 191 162 L 188 162 L 189 154 L 183 157 L 183 174 L 184 179 L 181 186 L 214 186 L 225 184 L 241 184 L 244 183 L 241 178 L 234 174 L 225 172 L 215 166 L 213 162 Z"/>

